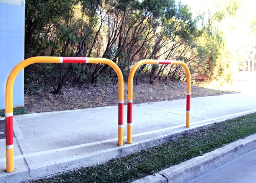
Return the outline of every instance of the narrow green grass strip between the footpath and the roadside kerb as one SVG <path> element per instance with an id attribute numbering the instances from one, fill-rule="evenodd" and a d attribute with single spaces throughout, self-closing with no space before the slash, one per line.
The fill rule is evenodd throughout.
<path id="1" fill-rule="evenodd" d="M 101 165 L 30 183 L 130 182 L 187 161 L 256 133 L 256 113 L 188 133 L 167 143 Z"/>

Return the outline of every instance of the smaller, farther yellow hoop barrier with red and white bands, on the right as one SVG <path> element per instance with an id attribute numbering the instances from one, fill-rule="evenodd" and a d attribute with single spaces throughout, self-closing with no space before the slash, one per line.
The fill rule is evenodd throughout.
<path id="1" fill-rule="evenodd" d="M 132 115 L 133 115 L 133 77 L 139 66 L 143 64 L 179 64 L 184 67 L 187 75 L 187 107 L 186 107 L 186 127 L 190 126 L 190 87 L 191 77 L 189 67 L 182 61 L 171 60 L 154 60 L 144 59 L 138 61 L 131 69 L 128 76 L 128 89 L 127 89 L 127 143 L 132 143 Z"/>

